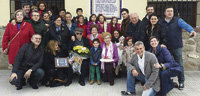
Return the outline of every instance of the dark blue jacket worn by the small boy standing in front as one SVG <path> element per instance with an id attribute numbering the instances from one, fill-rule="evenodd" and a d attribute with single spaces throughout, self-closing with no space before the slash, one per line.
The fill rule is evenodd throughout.
<path id="1" fill-rule="evenodd" d="M 100 65 L 101 53 L 102 53 L 102 49 L 100 46 L 97 48 L 96 51 L 94 47 L 90 49 L 90 64 L 91 65 L 93 65 L 94 63 L 97 63 L 98 65 Z"/>

